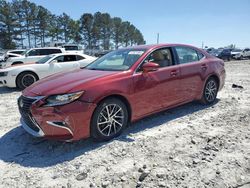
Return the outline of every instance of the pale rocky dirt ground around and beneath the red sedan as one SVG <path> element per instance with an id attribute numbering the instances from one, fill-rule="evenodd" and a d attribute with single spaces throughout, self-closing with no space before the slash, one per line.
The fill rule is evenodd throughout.
<path id="1" fill-rule="evenodd" d="M 250 187 L 250 61 L 226 71 L 213 106 L 156 114 L 108 143 L 29 136 L 20 92 L 0 87 L 0 187 Z"/>

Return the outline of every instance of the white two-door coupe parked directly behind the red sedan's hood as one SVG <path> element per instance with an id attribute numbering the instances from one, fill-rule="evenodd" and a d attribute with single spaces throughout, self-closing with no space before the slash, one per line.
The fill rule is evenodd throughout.
<path id="1" fill-rule="evenodd" d="M 49 75 L 85 67 L 95 59 L 95 57 L 80 53 L 51 54 L 36 63 L 1 69 L 0 84 L 24 89 Z"/>

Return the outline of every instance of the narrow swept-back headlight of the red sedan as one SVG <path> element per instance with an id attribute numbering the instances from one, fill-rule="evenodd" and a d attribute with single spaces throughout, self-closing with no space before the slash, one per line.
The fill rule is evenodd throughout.
<path id="1" fill-rule="evenodd" d="M 46 99 L 46 104 L 44 106 L 59 106 L 71 103 L 82 96 L 84 91 L 63 94 L 63 95 L 52 95 Z"/>

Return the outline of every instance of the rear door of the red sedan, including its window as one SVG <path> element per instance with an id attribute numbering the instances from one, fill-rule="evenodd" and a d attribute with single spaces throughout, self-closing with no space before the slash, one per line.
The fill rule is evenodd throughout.
<path id="1" fill-rule="evenodd" d="M 201 52 L 186 46 L 175 47 L 180 67 L 180 97 L 182 102 L 197 99 L 203 87 L 208 62 Z"/>

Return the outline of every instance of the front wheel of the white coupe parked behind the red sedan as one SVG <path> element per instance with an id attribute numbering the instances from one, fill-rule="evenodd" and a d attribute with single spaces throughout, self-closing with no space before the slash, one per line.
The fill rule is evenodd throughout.
<path id="1" fill-rule="evenodd" d="M 26 87 L 35 83 L 37 80 L 38 77 L 35 73 L 23 72 L 17 76 L 16 85 L 19 89 L 23 90 Z"/>

